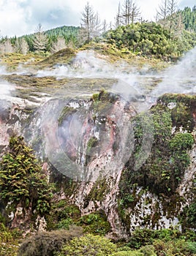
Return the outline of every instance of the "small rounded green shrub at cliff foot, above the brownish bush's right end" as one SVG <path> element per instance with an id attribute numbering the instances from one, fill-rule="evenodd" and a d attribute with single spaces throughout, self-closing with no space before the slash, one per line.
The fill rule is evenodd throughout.
<path id="1" fill-rule="evenodd" d="M 110 232 L 110 223 L 103 212 L 95 212 L 80 218 L 78 225 L 83 227 L 85 233 L 105 235 Z"/>

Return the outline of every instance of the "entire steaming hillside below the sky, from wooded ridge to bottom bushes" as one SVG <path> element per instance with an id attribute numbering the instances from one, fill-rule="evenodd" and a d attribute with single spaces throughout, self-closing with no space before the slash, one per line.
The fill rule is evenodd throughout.
<path id="1" fill-rule="evenodd" d="M 1 38 L 0 256 L 196 255 L 195 10 Z"/>

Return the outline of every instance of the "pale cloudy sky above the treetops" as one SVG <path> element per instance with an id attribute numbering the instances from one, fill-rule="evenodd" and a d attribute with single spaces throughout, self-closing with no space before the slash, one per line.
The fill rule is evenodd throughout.
<path id="1" fill-rule="evenodd" d="M 99 13 L 101 20 L 114 23 L 119 0 L 88 0 Z M 124 0 L 120 0 L 121 3 Z M 86 0 L 0 0 L 0 35 L 21 36 L 36 31 L 42 24 L 44 30 L 58 26 L 80 26 L 81 12 Z M 154 20 L 162 0 L 135 0 L 145 20 Z M 193 7 L 196 0 L 179 0 L 178 7 Z"/>

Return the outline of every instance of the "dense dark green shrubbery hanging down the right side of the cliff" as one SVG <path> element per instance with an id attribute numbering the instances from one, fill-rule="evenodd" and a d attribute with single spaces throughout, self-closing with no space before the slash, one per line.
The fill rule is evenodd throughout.
<path id="1" fill-rule="evenodd" d="M 191 106 L 187 108 L 191 109 Z M 162 192 L 167 195 L 176 191 L 181 177 L 184 175 L 184 170 L 189 165 L 187 150 L 192 148 L 194 139 L 190 133 L 172 134 L 173 112 L 165 106 L 162 100 L 151 110 L 151 116 L 154 128 L 154 144 L 151 148 L 151 155 L 146 164 L 140 167 L 140 170 L 127 172 L 129 178 L 126 180 L 131 181 L 131 184 L 137 183 L 140 186 L 149 187 L 151 192 L 156 192 L 157 195 Z M 133 119 L 136 144 L 129 160 L 129 170 L 132 170 L 135 157 L 137 157 L 138 151 L 140 152 L 140 144 L 143 142 L 141 120 L 143 121 L 143 118 L 138 118 L 138 116 Z M 187 122 L 186 120 L 186 124 Z"/>

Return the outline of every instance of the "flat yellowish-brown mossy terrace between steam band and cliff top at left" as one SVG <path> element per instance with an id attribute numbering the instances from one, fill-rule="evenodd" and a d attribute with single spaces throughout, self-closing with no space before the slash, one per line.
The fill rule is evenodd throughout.
<path id="1" fill-rule="evenodd" d="M 91 94 L 102 88 L 109 90 L 116 79 L 109 78 L 62 78 L 42 77 L 33 75 L 2 75 L 2 79 L 9 83 L 15 83 L 18 88 L 15 97 L 29 99 L 30 102 L 40 102 L 42 95 L 53 98 L 76 99 L 80 93 L 80 99 L 89 99 Z M 37 95 L 35 97 L 35 95 Z M 28 105 L 28 103 L 27 103 Z"/>

